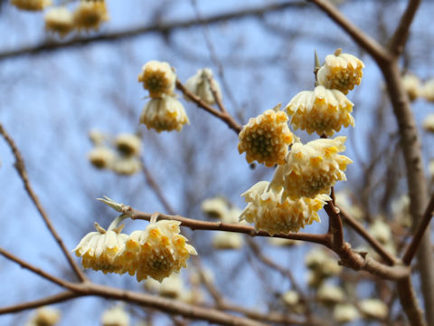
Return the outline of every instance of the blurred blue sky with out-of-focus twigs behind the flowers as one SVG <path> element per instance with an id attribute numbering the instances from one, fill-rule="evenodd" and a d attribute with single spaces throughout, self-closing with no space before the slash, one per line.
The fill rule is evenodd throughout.
<path id="1" fill-rule="evenodd" d="M 76 5 L 74 1 L 67 3 Z M 0 121 L 21 149 L 34 190 L 68 248 L 72 250 L 82 236 L 93 231 L 94 221 L 107 227 L 116 217 L 116 212 L 95 200 L 97 197 L 108 196 L 149 213 L 170 213 L 144 173 L 123 176 L 90 164 L 91 129 L 110 137 L 137 133 L 143 141 L 142 158 L 147 170 L 169 206 L 181 216 L 209 219 L 202 203 L 210 197 L 224 197 L 230 207 L 242 209 L 241 193 L 272 176 L 273 168 L 250 168 L 245 156 L 238 154 L 238 136 L 233 130 L 193 103 L 183 101 L 181 95 L 190 118 L 190 125 L 181 132 L 158 134 L 139 125 L 138 117 L 148 101 L 147 91 L 137 82 L 143 64 L 150 60 L 169 62 L 181 82 L 198 69 L 211 68 L 222 85 L 227 109 L 235 120 L 245 124 L 278 102 L 286 105 L 297 92 L 313 90 L 314 51 L 323 62 L 325 55 L 340 47 L 344 53 L 362 59 L 366 68 L 361 85 L 348 95 L 354 102 L 355 128 L 338 133 L 348 137 L 345 155 L 354 164 L 347 170 L 348 181 L 338 184 L 336 190 L 346 191 L 350 206 L 360 210 L 360 221 L 367 227 L 382 216 L 391 233 L 384 241 L 390 242 L 391 250 L 400 251 L 410 226 L 402 222 L 405 208 L 400 206 L 406 183 L 397 126 L 382 75 L 373 60 L 325 14 L 299 1 L 106 3 L 109 21 L 98 31 L 72 33 L 63 39 L 45 33 L 43 12 L 18 10 L 8 1 L 0 6 Z M 344 0 L 335 1 L 335 5 L 363 31 L 385 43 L 406 2 Z M 403 72 L 414 73 L 420 84 L 434 77 L 434 30 L 428 27 L 433 9 L 434 3 L 422 2 L 401 62 Z M 81 39 L 87 41 L 76 42 Z M 433 104 L 418 97 L 412 105 L 430 180 L 433 136 L 421 126 L 434 111 Z M 316 139 L 299 130 L 296 134 L 304 142 Z M 3 139 L 0 160 L 0 246 L 50 273 L 71 279 L 70 267 L 27 197 Z M 323 213 L 322 224 L 309 225 L 303 232 L 325 232 L 327 217 Z M 125 231 L 142 229 L 146 224 L 127 221 Z M 196 247 L 203 268 L 213 274 L 212 283 L 234 304 L 265 314 L 278 312 L 302 322 L 305 311 L 294 310 L 282 299 L 286 292 L 297 290 L 310 302 L 313 315 L 324 317 L 330 324 L 337 322 L 331 317 L 337 303 L 322 304 L 317 298 L 319 285 L 308 284 L 305 257 L 318 246 L 280 246 L 265 238 L 250 241 L 243 237 L 239 248 L 219 250 L 212 245 L 216 233 L 183 230 Z M 346 236 L 354 247 L 363 245 L 351 231 Z M 296 285 L 288 274 L 260 260 L 255 251 L 258 248 L 289 271 Z M 181 274 L 185 288 L 192 291 L 195 287 L 196 302 L 212 304 L 209 291 L 203 284 L 195 284 L 195 265 L 190 262 L 189 266 Z M 149 291 L 128 275 L 86 273 L 96 283 Z M 0 275 L 0 306 L 61 291 L 3 257 Z M 380 298 L 387 303 L 389 310 L 381 321 L 360 317 L 351 324 L 403 322 L 390 284 L 365 276 L 348 270 L 327 276 L 326 282 L 340 286 L 348 302 Z M 99 298 L 81 298 L 55 307 L 62 313 L 59 325 L 97 325 L 101 313 L 113 304 Z M 125 309 L 131 324 L 143 320 L 156 325 L 178 322 L 133 305 Z M 32 313 L 2 315 L 0 325 L 24 324 Z"/>

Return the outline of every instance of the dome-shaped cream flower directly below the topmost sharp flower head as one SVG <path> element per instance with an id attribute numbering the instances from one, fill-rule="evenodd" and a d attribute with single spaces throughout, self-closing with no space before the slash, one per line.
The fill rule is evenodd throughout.
<path id="1" fill-rule="evenodd" d="M 354 127 L 353 106 L 343 92 L 316 86 L 314 91 L 299 92 L 285 110 L 294 129 L 331 137 L 343 126 Z"/>

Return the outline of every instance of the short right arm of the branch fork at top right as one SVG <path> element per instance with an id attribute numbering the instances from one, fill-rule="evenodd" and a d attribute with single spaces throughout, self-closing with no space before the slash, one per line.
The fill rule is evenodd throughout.
<path id="1" fill-rule="evenodd" d="M 404 14 L 401 16 L 400 23 L 392 35 L 391 42 L 389 43 L 389 51 L 394 57 L 399 57 L 404 51 L 405 43 L 409 38 L 410 24 L 413 21 L 414 15 L 418 10 L 420 0 L 409 0 Z"/>

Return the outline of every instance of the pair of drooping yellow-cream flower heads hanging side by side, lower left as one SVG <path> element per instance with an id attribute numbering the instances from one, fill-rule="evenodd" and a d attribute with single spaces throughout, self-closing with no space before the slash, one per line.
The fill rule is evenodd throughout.
<path id="1" fill-rule="evenodd" d="M 152 277 L 161 282 L 186 267 L 190 254 L 197 254 L 180 235 L 178 221 L 151 222 L 144 231 L 121 234 L 123 225 L 85 235 L 73 250 L 85 268 L 103 273 L 136 274 L 137 281 Z"/>

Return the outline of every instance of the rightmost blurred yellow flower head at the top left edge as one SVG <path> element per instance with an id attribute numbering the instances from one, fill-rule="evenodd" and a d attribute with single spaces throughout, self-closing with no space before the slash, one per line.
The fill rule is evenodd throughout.
<path id="1" fill-rule="evenodd" d="M 104 0 L 81 0 L 74 13 L 74 26 L 79 31 L 99 29 L 99 25 L 109 20 Z"/>

